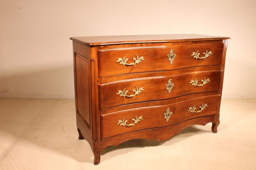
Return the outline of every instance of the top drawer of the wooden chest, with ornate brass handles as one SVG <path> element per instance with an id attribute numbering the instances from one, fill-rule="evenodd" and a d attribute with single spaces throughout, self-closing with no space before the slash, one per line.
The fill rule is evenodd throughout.
<path id="1" fill-rule="evenodd" d="M 224 45 L 134 47 L 99 50 L 100 77 L 221 65 Z"/>

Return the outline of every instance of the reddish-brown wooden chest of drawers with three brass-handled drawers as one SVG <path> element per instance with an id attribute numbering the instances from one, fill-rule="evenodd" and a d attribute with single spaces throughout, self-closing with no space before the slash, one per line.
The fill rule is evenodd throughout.
<path id="1" fill-rule="evenodd" d="M 228 37 L 72 37 L 79 139 L 102 149 L 166 140 L 190 125 L 217 132 Z"/>

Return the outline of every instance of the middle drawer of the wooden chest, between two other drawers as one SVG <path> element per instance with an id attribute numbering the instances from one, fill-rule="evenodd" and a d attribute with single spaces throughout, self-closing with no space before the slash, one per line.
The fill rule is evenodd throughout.
<path id="1" fill-rule="evenodd" d="M 220 90 L 221 71 L 145 77 L 99 85 L 100 109 Z"/>

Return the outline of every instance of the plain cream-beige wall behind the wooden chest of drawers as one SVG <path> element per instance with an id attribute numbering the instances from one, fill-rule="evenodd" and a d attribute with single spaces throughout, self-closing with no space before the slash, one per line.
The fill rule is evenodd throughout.
<path id="1" fill-rule="evenodd" d="M 0 0 L 0 96 L 74 98 L 70 37 L 227 36 L 223 97 L 256 97 L 255 0 Z"/>

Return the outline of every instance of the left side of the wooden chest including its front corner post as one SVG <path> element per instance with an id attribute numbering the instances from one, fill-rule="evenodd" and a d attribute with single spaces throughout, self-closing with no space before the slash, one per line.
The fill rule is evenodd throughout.
<path id="1" fill-rule="evenodd" d="M 96 155 L 94 163 L 98 162 L 100 149 L 100 122 L 97 113 L 97 47 L 90 47 L 73 41 L 74 81 L 76 101 L 76 125 L 79 139 L 89 142 L 93 154 Z"/>

